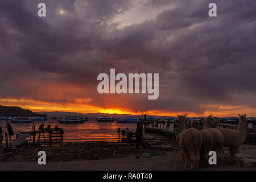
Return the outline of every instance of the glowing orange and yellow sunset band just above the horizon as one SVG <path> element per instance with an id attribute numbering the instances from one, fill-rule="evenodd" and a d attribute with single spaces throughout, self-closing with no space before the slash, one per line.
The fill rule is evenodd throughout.
<path id="1" fill-rule="evenodd" d="M 218 117 L 225 116 L 236 116 L 237 113 L 248 113 L 247 115 L 254 116 L 255 108 L 249 108 L 247 106 L 221 106 L 221 105 L 204 105 L 207 107 L 204 113 L 197 114 L 191 112 L 168 112 L 162 110 L 147 110 L 147 111 L 138 111 L 125 109 L 125 108 L 103 108 L 93 105 L 84 105 L 79 103 L 77 100 L 76 103 L 65 103 L 65 104 L 53 104 L 43 101 L 32 101 L 32 100 L 15 100 L 15 99 L 2 99 L 2 105 L 6 106 L 20 106 L 23 109 L 29 109 L 32 111 L 68 111 L 68 112 L 77 112 L 77 113 L 104 113 L 104 114 L 132 114 L 132 115 L 159 115 L 159 116 L 174 116 L 176 114 L 188 114 L 189 117 L 197 117 L 199 115 L 216 115 Z"/>

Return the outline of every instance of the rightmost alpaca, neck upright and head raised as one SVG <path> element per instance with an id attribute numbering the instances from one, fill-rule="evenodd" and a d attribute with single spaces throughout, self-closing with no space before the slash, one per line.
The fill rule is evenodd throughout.
<path id="1" fill-rule="evenodd" d="M 246 137 L 246 123 L 247 123 L 246 114 L 244 115 L 238 114 L 238 115 L 239 115 L 239 123 L 238 123 L 237 130 L 218 128 L 218 130 L 220 130 L 224 134 L 224 138 L 225 138 L 224 146 L 229 147 L 229 155 L 233 162 L 234 162 L 234 155 L 237 154 L 238 148 L 245 141 L 245 137 Z"/>

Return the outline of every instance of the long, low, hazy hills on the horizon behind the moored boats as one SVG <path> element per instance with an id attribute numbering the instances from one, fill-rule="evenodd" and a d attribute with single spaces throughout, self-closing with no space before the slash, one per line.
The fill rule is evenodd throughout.
<path id="1" fill-rule="evenodd" d="M 75 113 L 75 112 L 62 112 L 62 111 L 52 111 L 52 112 L 38 112 L 38 114 L 46 114 L 49 118 L 52 117 L 63 117 L 65 115 L 69 116 L 76 116 L 76 117 L 88 117 L 88 118 L 97 118 L 101 116 L 106 117 L 119 117 L 119 118 L 125 118 L 125 117 L 143 117 L 144 115 L 131 115 L 131 114 L 104 114 L 104 113 Z M 164 116 L 158 116 L 158 115 L 147 115 L 147 117 L 157 117 L 157 118 L 164 118 Z"/>

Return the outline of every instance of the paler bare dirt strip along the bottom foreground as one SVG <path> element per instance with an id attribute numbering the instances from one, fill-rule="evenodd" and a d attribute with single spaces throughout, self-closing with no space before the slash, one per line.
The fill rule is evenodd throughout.
<path id="1" fill-rule="evenodd" d="M 250 148 L 250 152 L 247 149 Z M 256 155 L 256 146 L 242 146 L 241 152 Z M 256 156 L 255 156 L 256 157 Z M 228 156 L 225 157 L 228 161 Z M 179 152 L 166 152 L 166 155 L 150 158 L 135 158 L 127 156 L 123 158 L 110 158 L 101 160 L 78 160 L 72 162 L 49 162 L 39 165 L 35 162 L 1 162 L 0 170 L 184 170 Z M 226 164 L 225 167 L 208 167 L 201 170 L 256 170 L 256 168 L 240 168 Z"/>

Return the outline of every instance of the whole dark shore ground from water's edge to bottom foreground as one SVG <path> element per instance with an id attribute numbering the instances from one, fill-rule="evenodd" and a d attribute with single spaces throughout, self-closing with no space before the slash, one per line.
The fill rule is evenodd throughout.
<path id="1" fill-rule="evenodd" d="M 46 151 L 46 165 L 38 164 L 38 152 Z M 256 146 L 243 144 L 243 154 L 256 158 Z M 199 171 L 256 170 L 256 167 L 232 166 L 225 148 L 224 167 L 207 167 Z M 0 170 L 89 170 L 89 171 L 177 171 L 183 168 L 175 142 L 136 149 L 134 143 L 64 142 L 57 146 L 23 146 L 0 158 Z"/>

